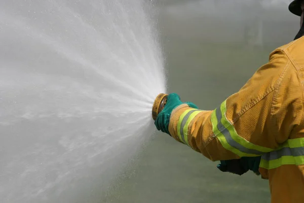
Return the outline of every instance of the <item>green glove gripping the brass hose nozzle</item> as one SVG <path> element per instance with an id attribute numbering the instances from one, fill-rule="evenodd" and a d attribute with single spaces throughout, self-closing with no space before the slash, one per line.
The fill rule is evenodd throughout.
<path id="1" fill-rule="evenodd" d="M 169 122 L 170 122 L 171 113 L 176 107 L 182 104 L 187 104 L 191 108 L 198 109 L 198 107 L 191 102 L 182 103 L 180 101 L 180 97 L 176 93 L 171 93 L 168 95 L 165 108 L 159 113 L 157 119 L 154 122 L 156 128 L 171 136 L 169 132 Z"/>

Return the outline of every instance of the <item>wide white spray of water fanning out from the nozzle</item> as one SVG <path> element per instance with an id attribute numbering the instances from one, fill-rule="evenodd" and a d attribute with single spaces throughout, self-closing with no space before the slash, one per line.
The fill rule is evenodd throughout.
<path id="1" fill-rule="evenodd" d="M 98 202 L 156 128 L 154 2 L 0 1 L 1 202 Z"/>

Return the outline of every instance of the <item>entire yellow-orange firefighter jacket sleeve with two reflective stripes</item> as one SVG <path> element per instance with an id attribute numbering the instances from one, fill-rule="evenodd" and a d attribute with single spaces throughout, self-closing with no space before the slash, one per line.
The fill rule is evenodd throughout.
<path id="1" fill-rule="evenodd" d="M 299 87 L 295 67 L 277 49 L 267 64 L 215 110 L 176 108 L 169 131 L 174 139 L 213 161 L 260 156 L 288 140 L 300 123 L 303 95 Z"/>

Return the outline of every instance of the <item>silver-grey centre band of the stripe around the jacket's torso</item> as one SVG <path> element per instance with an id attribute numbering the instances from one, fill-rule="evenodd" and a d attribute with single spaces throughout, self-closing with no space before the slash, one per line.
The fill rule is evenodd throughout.
<path id="1" fill-rule="evenodd" d="M 297 147 L 297 148 L 284 147 L 277 151 L 269 152 L 262 155 L 262 159 L 271 161 L 271 160 L 279 159 L 282 156 L 304 156 L 304 147 Z"/>

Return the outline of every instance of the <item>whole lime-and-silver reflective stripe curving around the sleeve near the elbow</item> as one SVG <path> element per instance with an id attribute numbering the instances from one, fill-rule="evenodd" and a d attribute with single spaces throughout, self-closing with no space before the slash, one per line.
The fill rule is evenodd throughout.
<path id="1" fill-rule="evenodd" d="M 271 148 L 254 145 L 240 137 L 225 114 L 226 100 L 211 115 L 213 132 L 225 149 L 234 152 L 240 157 L 257 156 L 273 151 Z"/>

